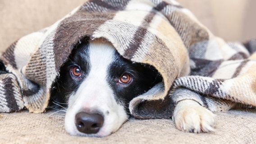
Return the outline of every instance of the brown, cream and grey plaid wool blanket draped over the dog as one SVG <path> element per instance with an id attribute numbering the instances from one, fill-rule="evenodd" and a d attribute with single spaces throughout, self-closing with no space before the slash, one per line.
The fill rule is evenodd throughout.
<path id="1" fill-rule="evenodd" d="M 256 40 L 226 43 L 174 0 L 87 0 L 2 54 L 0 112 L 44 112 L 59 68 L 86 37 L 160 72 L 163 81 L 130 102 L 135 117 L 169 118 L 183 99 L 211 111 L 256 106 Z"/>

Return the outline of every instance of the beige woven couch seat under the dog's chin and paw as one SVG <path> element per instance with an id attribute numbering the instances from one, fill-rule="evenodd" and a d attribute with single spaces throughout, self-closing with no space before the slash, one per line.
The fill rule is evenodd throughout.
<path id="1" fill-rule="evenodd" d="M 215 133 L 185 133 L 171 119 L 130 119 L 104 138 L 76 137 L 64 130 L 64 113 L 0 113 L 0 143 L 46 144 L 249 144 L 256 143 L 256 111 L 219 112 Z"/>

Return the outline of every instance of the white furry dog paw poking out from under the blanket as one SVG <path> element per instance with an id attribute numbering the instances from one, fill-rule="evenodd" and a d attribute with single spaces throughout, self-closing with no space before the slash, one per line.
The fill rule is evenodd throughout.
<path id="1" fill-rule="evenodd" d="M 176 127 L 185 132 L 213 132 L 215 114 L 194 100 L 186 99 L 177 103 L 173 114 Z"/>

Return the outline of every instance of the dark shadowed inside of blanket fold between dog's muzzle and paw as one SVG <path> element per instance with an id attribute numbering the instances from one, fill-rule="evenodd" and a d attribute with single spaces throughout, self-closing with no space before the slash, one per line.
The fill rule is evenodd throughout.
<path id="1" fill-rule="evenodd" d="M 145 100 L 133 109 L 133 116 L 140 119 L 170 118 L 173 115 L 175 103 L 166 96 L 165 99 Z"/>

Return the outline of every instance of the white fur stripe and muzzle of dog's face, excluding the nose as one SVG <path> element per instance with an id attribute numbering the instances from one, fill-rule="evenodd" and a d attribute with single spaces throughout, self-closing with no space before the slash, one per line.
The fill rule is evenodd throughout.
<path id="1" fill-rule="evenodd" d="M 114 99 L 113 90 L 107 82 L 107 70 L 113 60 L 113 46 L 96 41 L 90 43 L 89 49 L 91 69 L 77 92 L 70 94 L 65 129 L 70 135 L 103 137 L 118 130 L 128 116 L 123 106 Z M 75 116 L 81 111 L 99 111 L 103 114 L 104 124 L 98 133 L 87 135 L 77 130 Z"/>

